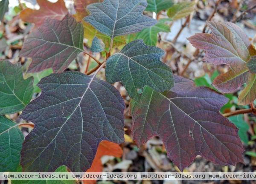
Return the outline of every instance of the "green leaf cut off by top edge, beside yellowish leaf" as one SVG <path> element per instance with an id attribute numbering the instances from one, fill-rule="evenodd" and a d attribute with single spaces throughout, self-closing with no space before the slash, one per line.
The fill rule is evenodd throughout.
<path id="1" fill-rule="evenodd" d="M 173 5 L 173 0 L 147 0 L 147 2 L 148 6 L 145 11 L 156 13 L 169 9 Z"/>

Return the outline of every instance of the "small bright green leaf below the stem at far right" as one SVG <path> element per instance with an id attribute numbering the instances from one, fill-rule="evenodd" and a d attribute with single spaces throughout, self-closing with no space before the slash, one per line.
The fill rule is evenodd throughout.
<path id="1" fill-rule="evenodd" d="M 244 121 L 244 115 L 236 115 L 231 116 L 228 118 L 233 124 L 236 125 L 237 128 L 239 128 L 238 135 L 241 138 L 241 141 L 244 142 L 244 144 L 248 144 L 248 135 L 247 131 L 249 129 L 249 125 Z"/>

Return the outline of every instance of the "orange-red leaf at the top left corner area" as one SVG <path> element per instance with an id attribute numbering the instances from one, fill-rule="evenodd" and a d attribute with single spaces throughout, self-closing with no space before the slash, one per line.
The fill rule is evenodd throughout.
<path id="1" fill-rule="evenodd" d="M 62 20 L 67 14 L 64 0 L 51 3 L 48 0 L 37 0 L 39 10 L 24 9 L 20 12 L 20 18 L 29 23 L 35 23 L 35 28 L 41 26 L 47 18 Z"/>

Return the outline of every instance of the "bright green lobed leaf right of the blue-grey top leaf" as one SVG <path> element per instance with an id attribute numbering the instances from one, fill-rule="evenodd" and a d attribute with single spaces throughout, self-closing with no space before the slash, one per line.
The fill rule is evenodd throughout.
<path id="1" fill-rule="evenodd" d="M 159 32 L 170 32 L 170 27 L 165 24 L 166 21 L 169 21 L 169 19 L 160 19 L 154 26 L 144 28 L 137 33 L 136 39 L 143 39 L 147 45 L 157 45 L 157 34 Z"/>

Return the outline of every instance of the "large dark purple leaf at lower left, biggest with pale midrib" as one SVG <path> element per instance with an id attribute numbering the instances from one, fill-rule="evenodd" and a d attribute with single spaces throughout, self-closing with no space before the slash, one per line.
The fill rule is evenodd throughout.
<path id="1" fill-rule="evenodd" d="M 115 87 L 80 72 L 43 78 L 41 95 L 29 103 L 21 118 L 35 128 L 26 136 L 21 165 L 26 171 L 53 172 L 66 165 L 84 172 L 102 140 L 124 141 L 124 101 Z"/>

